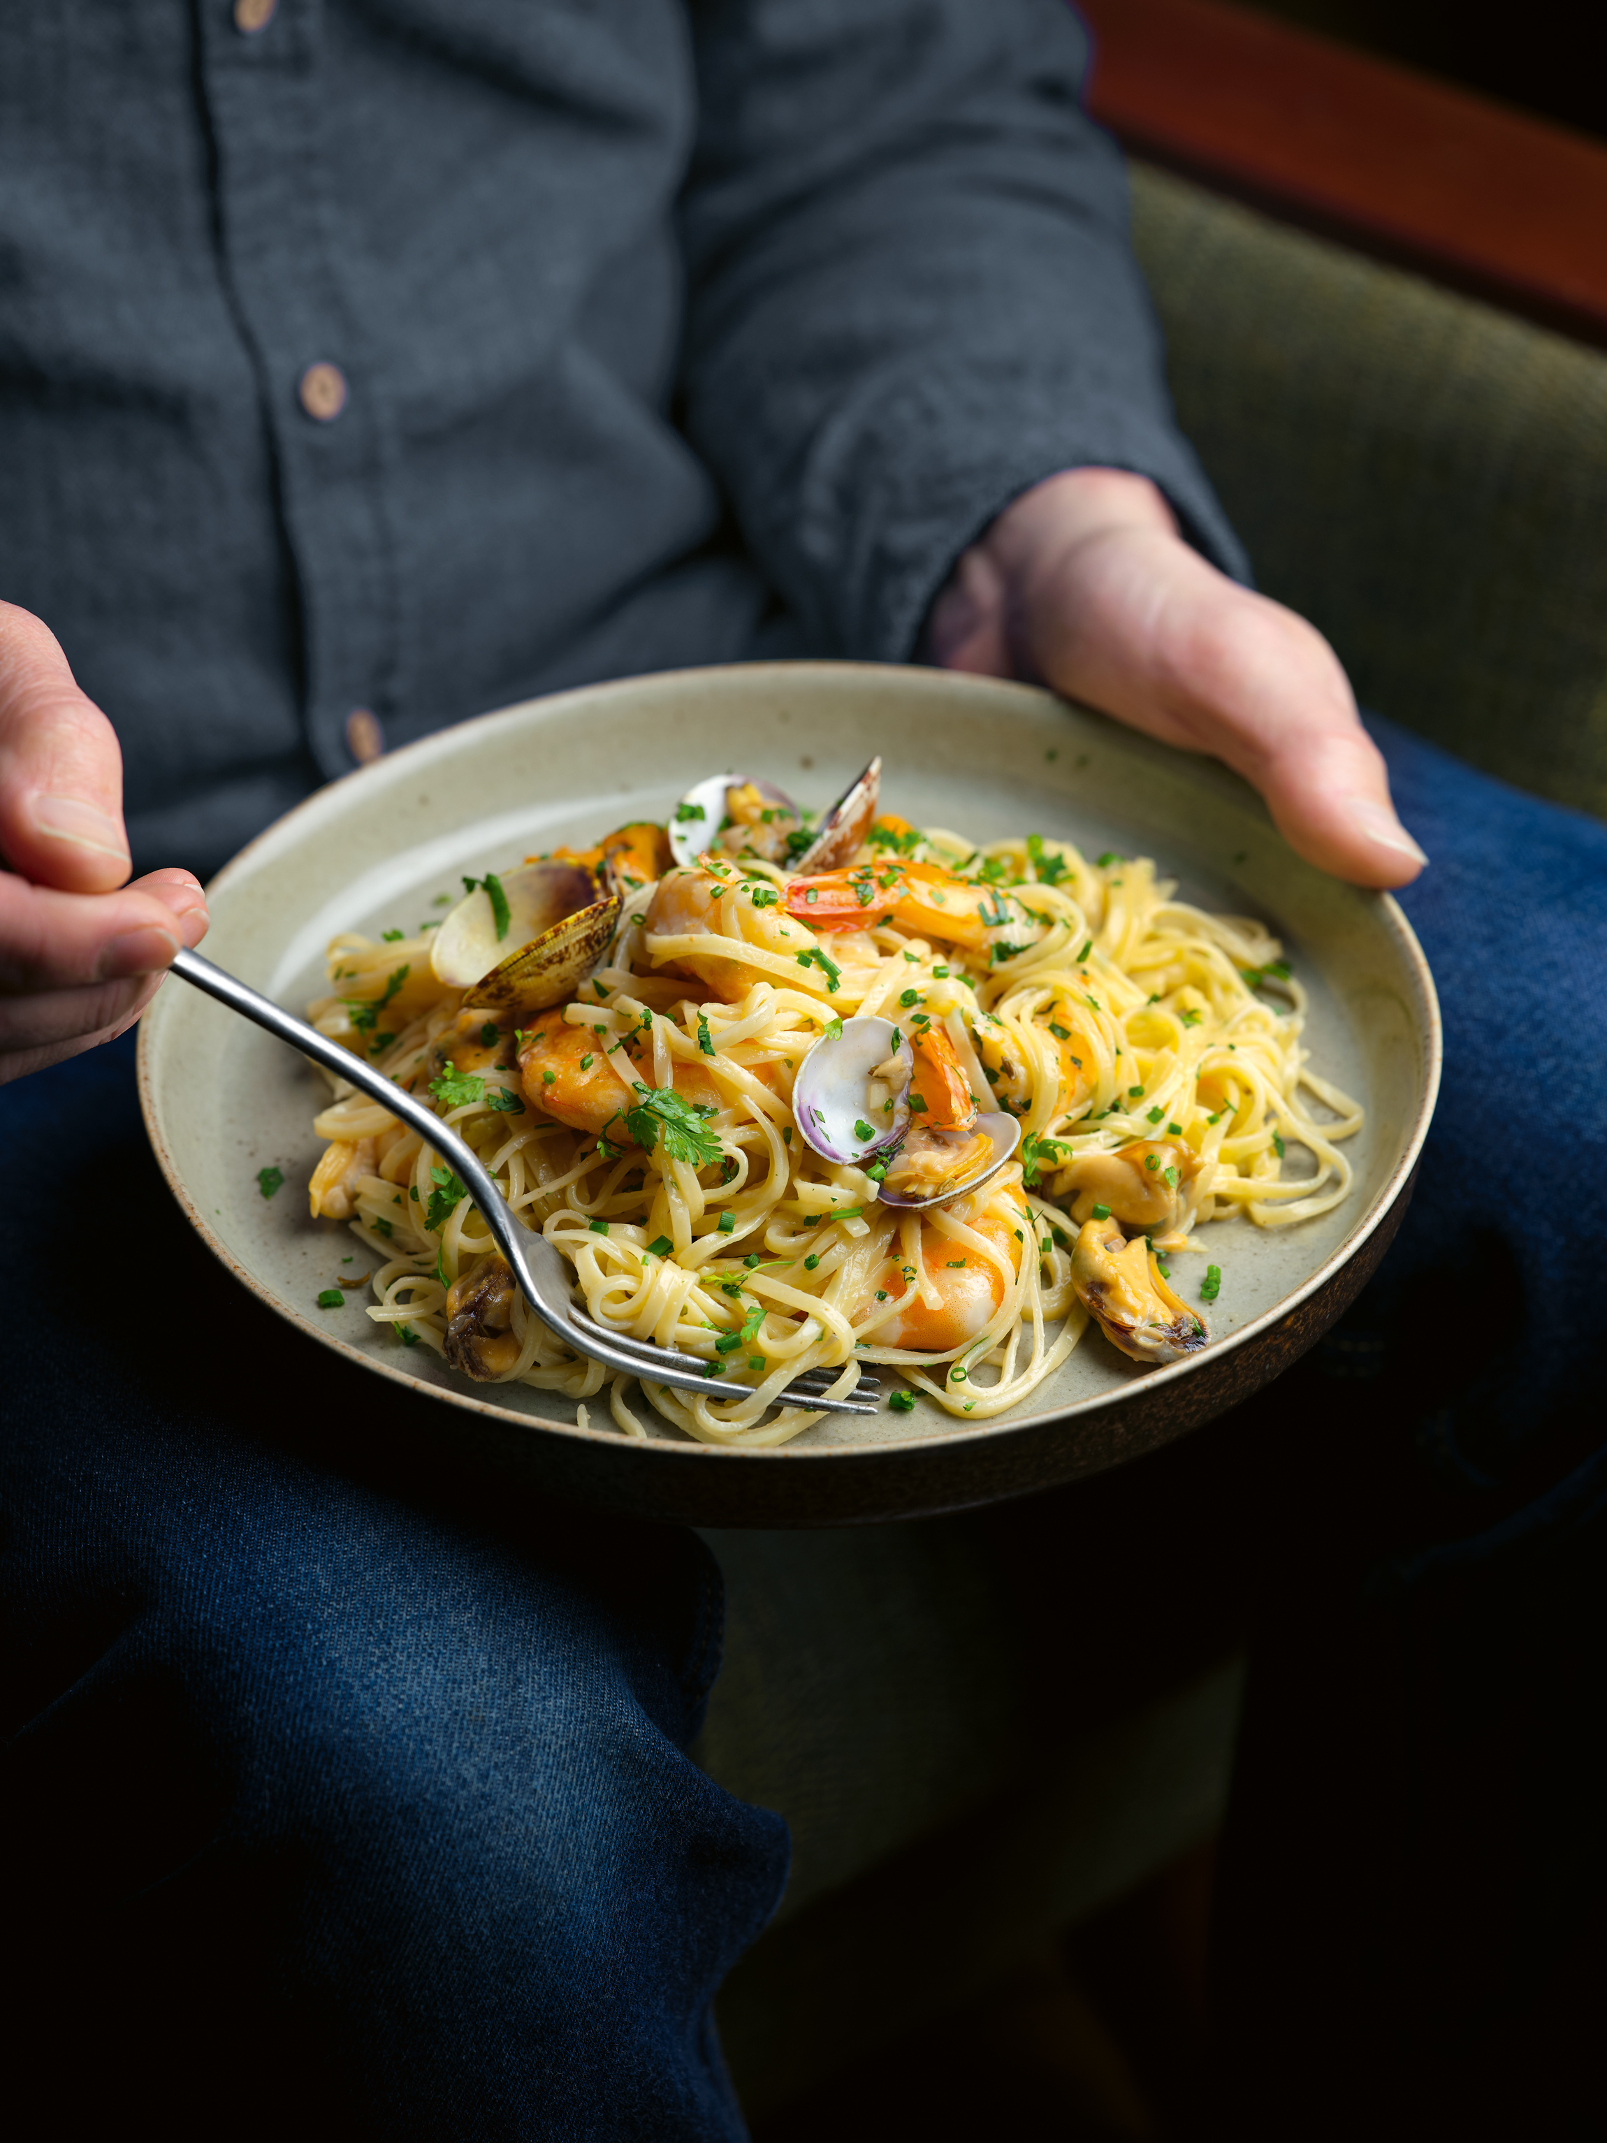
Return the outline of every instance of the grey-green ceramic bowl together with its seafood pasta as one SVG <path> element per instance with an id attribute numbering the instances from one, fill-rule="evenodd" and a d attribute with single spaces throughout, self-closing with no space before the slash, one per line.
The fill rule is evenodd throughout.
<path id="1" fill-rule="evenodd" d="M 568 1348 L 429 1140 L 167 988 L 141 1102 L 199 1234 L 444 1438 L 651 1517 L 945 1511 L 1200 1427 L 1376 1269 L 1438 1084 L 1388 896 L 1213 763 L 936 671 L 489 714 L 309 797 L 210 904 L 206 951 L 429 1097 L 591 1320 L 746 1395 Z M 874 1412 L 786 1397 L 866 1369 Z"/>

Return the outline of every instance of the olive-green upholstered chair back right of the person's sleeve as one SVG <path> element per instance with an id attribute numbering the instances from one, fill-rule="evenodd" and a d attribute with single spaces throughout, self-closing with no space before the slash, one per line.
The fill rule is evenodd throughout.
<path id="1" fill-rule="evenodd" d="M 1363 705 L 1607 816 L 1607 356 L 1133 167 L 1183 431 Z"/>

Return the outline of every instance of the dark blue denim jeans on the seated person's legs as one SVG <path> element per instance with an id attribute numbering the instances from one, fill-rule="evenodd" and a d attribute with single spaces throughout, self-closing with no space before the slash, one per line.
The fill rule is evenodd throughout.
<path id="1" fill-rule="evenodd" d="M 1607 1614 L 1581 1620 L 1607 1318 L 1566 1232 L 1607 1181 L 1607 829 L 1378 735 L 1433 857 L 1406 906 L 1446 1084 L 1380 1277 L 1292 1372 L 1333 1438 L 1268 1487 L 1279 1612 L 1226 1916 L 1230 2017 L 1275 2012 L 1318 2062 L 1288 1989 L 1324 1982 L 1324 1946 L 1380 2044 L 1406 1963 L 1451 1976 L 1453 2036 L 1478 1995 L 1478 1914 L 1444 1869 L 1395 1879 L 1436 1822 L 1461 1852 L 1472 1809 L 1500 1862 L 1508 2004 L 1601 1888 L 1607 1830 L 1558 1672 L 1594 1693 L 1607 1665 Z M 11 1939 L 51 2124 L 739 2137 L 709 1999 L 786 1832 L 684 1755 L 718 1665 L 703 1545 L 465 1481 L 426 1399 L 386 1391 L 379 1419 L 191 1237 L 126 1046 L 0 1093 L 0 1140 Z M 79 1247 L 90 1211 L 114 1228 Z M 1491 1785 L 1515 1725 L 1534 1759 Z M 1292 1912 L 1301 1841 L 1358 1804 L 1382 1862 Z M 1380 1967 L 1382 1924 L 1403 1948 Z"/>

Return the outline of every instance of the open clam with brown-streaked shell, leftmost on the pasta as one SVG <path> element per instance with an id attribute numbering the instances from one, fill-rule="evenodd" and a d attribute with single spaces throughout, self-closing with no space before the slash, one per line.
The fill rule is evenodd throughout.
<path id="1" fill-rule="evenodd" d="M 435 932 L 431 966 L 437 981 L 474 990 L 476 1005 L 542 1011 L 606 954 L 621 906 L 619 894 L 600 898 L 583 864 L 549 859 L 489 874 Z"/>

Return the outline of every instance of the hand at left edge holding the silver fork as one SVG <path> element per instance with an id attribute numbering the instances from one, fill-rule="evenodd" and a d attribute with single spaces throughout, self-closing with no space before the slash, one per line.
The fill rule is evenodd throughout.
<path id="1" fill-rule="evenodd" d="M 206 934 L 189 870 L 126 885 L 122 752 L 66 656 L 0 602 L 0 1082 L 109 1041 Z M 122 887 L 118 891 L 118 887 Z"/>

